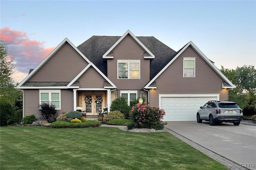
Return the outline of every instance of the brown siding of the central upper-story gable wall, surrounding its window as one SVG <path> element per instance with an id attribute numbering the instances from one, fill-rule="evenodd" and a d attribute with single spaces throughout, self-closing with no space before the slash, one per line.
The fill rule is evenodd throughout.
<path id="1" fill-rule="evenodd" d="M 108 78 L 119 90 L 142 89 L 149 81 L 149 59 L 144 59 L 144 49 L 128 35 L 113 50 L 114 59 L 108 59 Z M 140 60 L 140 79 L 117 79 L 117 60 Z"/>

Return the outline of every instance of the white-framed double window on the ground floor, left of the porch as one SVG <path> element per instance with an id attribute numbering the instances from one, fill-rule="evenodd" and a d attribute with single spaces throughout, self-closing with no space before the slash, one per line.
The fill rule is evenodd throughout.
<path id="1" fill-rule="evenodd" d="M 60 110 L 60 90 L 39 90 L 39 103 L 52 103 Z"/>

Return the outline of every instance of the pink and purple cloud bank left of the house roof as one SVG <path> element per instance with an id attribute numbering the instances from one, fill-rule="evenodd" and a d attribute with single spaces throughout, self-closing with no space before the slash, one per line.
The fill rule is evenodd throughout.
<path id="1" fill-rule="evenodd" d="M 15 57 L 14 67 L 16 75 L 27 74 L 29 69 L 34 69 L 54 47 L 44 47 L 45 42 L 30 40 L 25 32 L 10 30 L 9 27 L 0 29 L 0 38 L 8 46 L 9 57 Z M 14 81 L 16 80 L 14 77 Z"/>

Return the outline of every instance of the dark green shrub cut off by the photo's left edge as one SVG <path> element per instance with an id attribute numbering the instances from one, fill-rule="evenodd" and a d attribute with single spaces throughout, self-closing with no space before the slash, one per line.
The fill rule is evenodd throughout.
<path id="1" fill-rule="evenodd" d="M 15 111 L 15 106 L 11 102 L 4 98 L 0 98 L 0 126 L 10 125 L 10 120 L 13 118 L 13 113 Z"/>

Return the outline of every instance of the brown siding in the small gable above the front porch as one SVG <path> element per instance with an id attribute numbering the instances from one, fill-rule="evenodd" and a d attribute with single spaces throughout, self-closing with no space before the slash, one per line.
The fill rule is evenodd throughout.
<path id="1" fill-rule="evenodd" d="M 93 67 L 90 67 L 79 79 L 80 88 L 104 88 L 105 79 Z"/>

